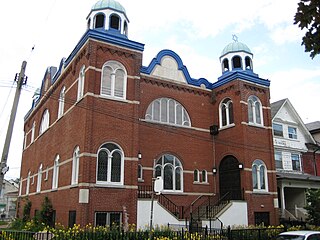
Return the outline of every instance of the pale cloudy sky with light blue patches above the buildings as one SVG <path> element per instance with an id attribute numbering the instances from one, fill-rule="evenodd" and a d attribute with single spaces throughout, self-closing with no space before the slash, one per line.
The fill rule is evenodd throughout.
<path id="1" fill-rule="evenodd" d="M 0 7 L 0 150 L 2 154 L 16 84 L 27 61 L 7 164 L 6 179 L 20 176 L 24 116 L 49 66 L 59 66 L 86 31 L 97 0 L 15 0 Z M 163 49 L 176 52 L 192 78 L 216 82 L 232 35 L 253 52 L 253 70 L 271 81 L 271 102 L 289 98 L 304 123 L 320 121 L 320 56 L 304 52 L 304 32 L 293 24 L 297 0 L 119 0 L 129 39 L 144 43 L 143 65 Z M 32 50 L 32 48 L 34 48 Z"/>

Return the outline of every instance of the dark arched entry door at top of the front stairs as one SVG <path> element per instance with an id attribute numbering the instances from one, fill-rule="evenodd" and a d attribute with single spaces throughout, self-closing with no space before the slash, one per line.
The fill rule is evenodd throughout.
<path id="1" fill-rule="evenodd" d="M 219 166 L 220 197 L 242 200 L 239 161 L 233 156 L 222 159 Z"/>

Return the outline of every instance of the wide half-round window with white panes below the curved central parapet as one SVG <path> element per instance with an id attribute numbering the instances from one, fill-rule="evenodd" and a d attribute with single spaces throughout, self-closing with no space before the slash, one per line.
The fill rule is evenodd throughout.
<path id="1" fill-rule="evenodd" d="M 190 117 L 186 109 L 171 98 L 154 100 L 148 106 L 145 119 L 180 126 L 191 126 Z"/>

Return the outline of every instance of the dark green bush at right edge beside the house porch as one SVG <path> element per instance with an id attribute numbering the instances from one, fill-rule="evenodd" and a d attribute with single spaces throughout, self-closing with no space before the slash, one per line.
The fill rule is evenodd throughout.
<path id="1" fill-rule="evenodd" d="M 307 191 L 308 220 L 311 224 L 320 225 L 320 189 Z"/>

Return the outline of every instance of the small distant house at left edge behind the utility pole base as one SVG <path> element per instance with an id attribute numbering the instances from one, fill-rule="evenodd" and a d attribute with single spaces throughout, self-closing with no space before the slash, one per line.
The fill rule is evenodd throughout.
<path id="1" fill-rule="evenodd" d="M 3 180 L 2 193 L 0 194 L 1 218 L 14 218 L 16 216 L 16 201 L 19 186 L 12 180 Z"/>

